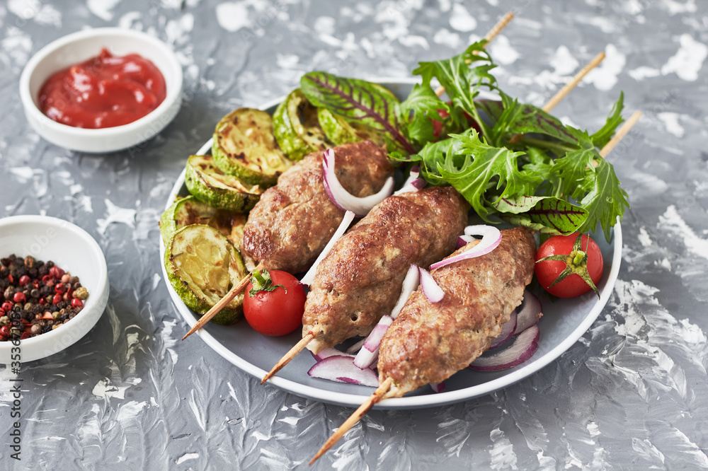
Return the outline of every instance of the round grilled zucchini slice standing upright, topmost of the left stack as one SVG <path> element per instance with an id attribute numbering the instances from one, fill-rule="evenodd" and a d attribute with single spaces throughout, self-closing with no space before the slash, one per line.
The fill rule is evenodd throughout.
<path id="1" fill-rule="evenodd" d="M 223 173 L 262 187 L 275 185 L 291 165 L 275 142 L 273 118 L 253 108 L 239 108 L 219 121 L 212 155 Z"/>

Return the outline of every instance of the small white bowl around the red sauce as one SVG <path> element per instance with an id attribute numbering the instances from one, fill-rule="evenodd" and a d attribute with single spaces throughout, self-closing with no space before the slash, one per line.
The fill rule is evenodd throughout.
<path id="1" fill-rule="evenodd" d="M 165 78 L 165 100 L 137 121 L 103 129 L 67 126 L 45 116 L 38 107 L 45 81 L 61 69 L 98 56 L 103 47 L 115 55 L 135 52 L 151 60 Z M 20 98 L 28 122 L 47 141 L 74 151 L 118 151 L 150 139 L 177 115 L 181 97 L 182 66 L 174 52 L 155 37 L 122 28 L 96 28 L 61 37 L 35 54 L 20 77 Z"/>

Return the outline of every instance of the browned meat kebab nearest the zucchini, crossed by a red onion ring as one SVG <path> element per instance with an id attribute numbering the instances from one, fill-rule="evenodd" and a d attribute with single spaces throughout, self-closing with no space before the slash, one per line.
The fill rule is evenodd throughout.
<path id="1" fill-rule="evenodd" d="M 387 153 L 372 141 L 334 149 L 335 172 L 342 186 L 357 197 L 374 194 L 393 175 Z M 290 273 L 306 271 L 341 223 L 338 209 L 324 189 L 322 152 L 305 156 L 266 190 L 244 227 L 242 254 L 250 264 Z"/>

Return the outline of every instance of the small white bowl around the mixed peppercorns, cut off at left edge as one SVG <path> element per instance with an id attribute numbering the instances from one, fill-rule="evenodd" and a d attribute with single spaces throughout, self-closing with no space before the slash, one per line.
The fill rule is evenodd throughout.
<path id="1" fill-rule="evenodd" d="M 50 356 L 84 337 L 101 318 L 108 303 L 108 269 L 101 248 L 84 229 L 49 216 L 11 216 L 0 219 L 0 257 L 32 255 L 79 277 L 89 291 L 76 317 L 61 327 L 20 341 L 21 364 Z M 11 364 L 12 342 L 0 342 L 0 364 Z"/>

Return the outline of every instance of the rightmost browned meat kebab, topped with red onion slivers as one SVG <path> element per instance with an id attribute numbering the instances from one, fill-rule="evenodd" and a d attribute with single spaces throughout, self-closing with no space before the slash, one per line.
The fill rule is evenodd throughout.
<path id="1" fill-rule="evenodd" d="M 381 341 L 379 383 L 393 380 L 384 397 L 440 383 L 472 363 L 501 333 L 531 282 L 536 252 L 527 229 L 501 233 L 501 243 L 489 254 L 433 270 L 445 291 L 442 301 L 430 303 L 421 289 L 411 294 Z"/>

